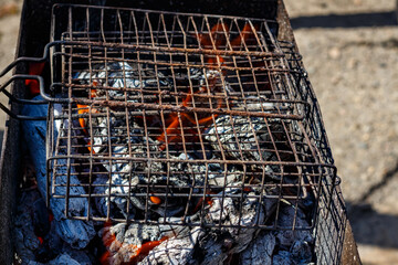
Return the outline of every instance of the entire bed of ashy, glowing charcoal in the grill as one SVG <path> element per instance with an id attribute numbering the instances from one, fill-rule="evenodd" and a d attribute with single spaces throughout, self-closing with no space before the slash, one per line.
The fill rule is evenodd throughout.
<path id="1" fill-rule="evenodd" d="M 74 91 L 74 97 L 146 104 L 161 102 L 182 108 L 228 107 L 270 113 L 282 109 L 253 96 L 229 100 L 229 95 L 237 92 L 218 70 L 190 68 L 187 73 L 177 70 L 177 81 L 172 83 L 164 70 L 146 64 L 109 62 L 91 67 L 91 71 L 75 73 L 73 82 L 78 89 Z M 177 89 L 174 85 L 185 87 L 177 93 L 178 100 L 170 95 Z M 205 95 L 217 97 L 210 100 Z M 102 230 L 97 233 L 98 227 L 95 230 L 93 222 L 64 219 L 65 200 L 52 198 L 50 209 L 55 220 L 50 229 L 44 225 L 34 231 L 39 234 L 51 231 L 59 235 L 45 240 L 44 245 L 49 246 L 50 242 L 57 251 L 42 247 L 52 253 L 52 261 L 44 262 L 55 264 L 70 258 L 71 264 L 90 264 L 87 245 L 95 234 L 106 247 L 101 261 L 108 264 L 223 264 L 233 257 L 242 264 L 306 264 L 313 259 L 314 242 L 308 230 L 260 232 L 253 229 L 272 225 L 276 215 L 280 226 L 308 226 L 307 216 L 300 206 L 277 204 L 275 198 L 285 192 L 277 187 L 282 167 L 244 163 L 295 161 L 290 155 L 293 152 L 286 144 L 290 135 L 282 119 L 208 113 L 195 116 L 184 112 L 165 112 L 161 117 L 146 115 L 140 109 L 96 104 L 72 107 L 72 114 L 84 114 L 85 117 L 55 123 L 57 142 L 63 147 L 56 155 L 66 155 L 67 137 L 71 137 L 72 155 L 86 158 L 55 160 L 54 172 L 57 174 L 54 182 L 59 184 L 55 193 L 65 195 L 70 189 L 70 194 L 82 195 L 90 190 L 93 198 L 70 198 L 67 214 L 86 216 L 91 212 L 102 218 L 157 221 L 158 224 L 107 222 L 100 225 Z M 32 106 L 27 107 L 25 113 L 46 115 L 46 109 Z M 55 116 L 67 115 L 67 112 L 69 108 L 56 108 Z M 34 150 L 39 189 L 44 197 L 45 124 L 25 121 L 24 128 L 27 138 L 31 138 L 27 141 Z M 36 135 L 30 137 L 29 134 Z M 275 149 L 282 149 L 284 153 L 277 156 Z M 67 163 L 74 165 L 70 179 L 73 187 L 66 187 Z M 91 189 L 88 184 L 95 187 Z M 40 201 L 34 205 L 43 208 Z M 40 211 L 33 212 L 40 214 Z M 295 223 L 292 223 L 294 216 Z M 175 225 L 184 222 L 203 225 Z M 19 242 L 21 239 L 27 241 L 23 242 L 27 250 L 36 247 L 34 236 L 23 233 L 30 235 L 31 232 L 18 231 Z M 27 258 L 38 256 L 32 251 L 25 253 Z"/>

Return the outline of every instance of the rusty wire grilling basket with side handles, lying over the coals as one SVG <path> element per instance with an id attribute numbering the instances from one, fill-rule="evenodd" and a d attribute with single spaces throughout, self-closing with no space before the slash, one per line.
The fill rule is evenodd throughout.
<path id="1" fill-rule="evenodd" d="M 2 73 L 45 64 L 2 91 L 48 115 L 1 106 L 48 121 L 48 205 L 87 222 L 310 231 L 316 262 L 338 264 L 347 221 L 322 117 L 282 2 L 258 4 L 265 19 L 53 6 L 43 56 L 20 52 Z M 19 99 L 27 80 L 40 97 Z"/>

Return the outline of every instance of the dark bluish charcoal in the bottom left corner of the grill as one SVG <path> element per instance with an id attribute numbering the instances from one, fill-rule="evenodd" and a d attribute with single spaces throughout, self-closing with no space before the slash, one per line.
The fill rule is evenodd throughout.
<path id="1" fill-rule="evenodd" d="M 75 250 L 60 237 L 57 225 L 39 190 L 23 190 L 13 229 L 18 259 L 22 264 L 92 264 L 86 251 Z"/>

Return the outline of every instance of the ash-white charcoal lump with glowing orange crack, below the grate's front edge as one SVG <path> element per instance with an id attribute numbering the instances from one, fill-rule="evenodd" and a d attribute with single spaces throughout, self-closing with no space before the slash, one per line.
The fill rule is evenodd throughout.
<path id="1" fill-rule="evenodd" d="M 116 224 L 100 235 L 107 246 L 102 261 L 107 264 L 188 264 L 191 262 L 200 227 Z"/>

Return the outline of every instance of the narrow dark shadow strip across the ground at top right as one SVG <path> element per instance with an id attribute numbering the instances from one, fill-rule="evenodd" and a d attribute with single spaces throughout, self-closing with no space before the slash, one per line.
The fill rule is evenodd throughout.
<path id="1" fill-rule="evenodd" d="M 302 28 L 359 28 L 397 25 L 395 12 L 311 15 L 291 19 L 293 29 Z"/>

